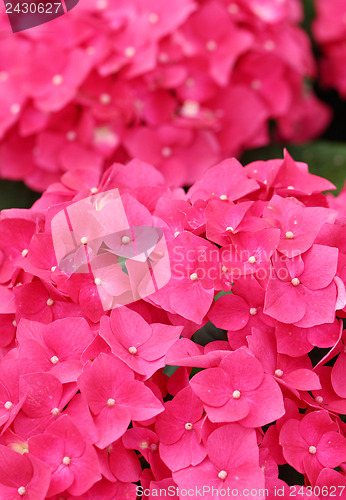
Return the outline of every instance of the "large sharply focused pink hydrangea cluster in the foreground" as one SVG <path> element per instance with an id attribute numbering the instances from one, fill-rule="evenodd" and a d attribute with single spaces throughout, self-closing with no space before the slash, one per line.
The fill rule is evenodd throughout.
<path id="1" fill-rule="evenodd" d="M 148 499 L 274 500 L 290 496 L 283 464 L 303 475 L 300 498 L 342 493 L 346 222 L 345 195 L 322 194 L 333 187 L 287 153 L 225 160 L 187 193 L 133 160 L 99 183 L 71 171 L 32 209 L 4 210 L 0 497 L 135 500 L 141 484 Z M 105 311 L 99 288 L 119 293 L 119 274 L 62 271 L 51 227 L 112 189 L 132 226 L 162 230 L 171 276 Z M 83 249 L 94 223 L 76 213 Z M 138 263 L 123 276 L 143 290 Z M 208 321 L 224 339 L 203 347 Z"/>

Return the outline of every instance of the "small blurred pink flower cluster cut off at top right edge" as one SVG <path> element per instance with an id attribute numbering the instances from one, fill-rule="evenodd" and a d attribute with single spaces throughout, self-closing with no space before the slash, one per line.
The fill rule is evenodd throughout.
<path id="1" fill-rule="evenodd" d="M 313 34 L 322 51 L 321 83 L 346 98 L 346 1 L 316 0 Z"/>

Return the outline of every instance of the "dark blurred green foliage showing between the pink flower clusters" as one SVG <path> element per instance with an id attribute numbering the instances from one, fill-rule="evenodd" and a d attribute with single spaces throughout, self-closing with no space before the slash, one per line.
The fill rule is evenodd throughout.
<path id="1" fill-rule="evenodd" d="M 302 3 L 305 9 L 303 26 L 311 35 L 311 24 L 315 16 L 314 0 L 302 0 Z M 314 52 L 316 58 L 318 58 L 319 52 L 315 45 Z M 240 161 L 247 164 L 255 160 L 282 158 L 283 148 L 287 147 L 296 161 L 308 163 L 312 173 L 326 177 L 340 191 L 346 179 L 346 102 L 342 101 L 335 91 L 326 91 L 319 88 L 317 84 L 315 84 L 315 91 L 320 99 L 332 108 L 334 113 L 334 118 L 323 137 L 318 141 L 301 145 L 273 142 L 265 148 L 245 152 Z M 22 182 L 0 180 L 0 210 L 5 208 L 29 208 L 39 196 L 40 193 L 31 191 Z"/>

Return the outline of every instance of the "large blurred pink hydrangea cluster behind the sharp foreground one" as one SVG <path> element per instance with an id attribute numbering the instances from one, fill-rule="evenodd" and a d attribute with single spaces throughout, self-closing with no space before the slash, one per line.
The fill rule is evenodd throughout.
<path id="1" fill-rule="evenodd" d="M 0 39 L 1 176 L 44 190 L 75 165 L 139 158 L 170 186 L 269 143 L 318 136 L 330 112 L 299 0 L 83 0 Z M 187 167 L 188 165 L 188 167 Z"/>

